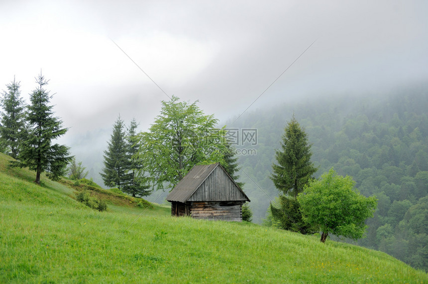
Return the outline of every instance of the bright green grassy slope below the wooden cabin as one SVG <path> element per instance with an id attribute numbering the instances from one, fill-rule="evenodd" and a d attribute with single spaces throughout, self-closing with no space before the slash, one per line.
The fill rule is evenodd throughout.
<path id="1" fill-rule="evenodd" d="M 248 223 L 108 204 L 7 169 L 0 154 L 0 283 L 428 283 L 385 253 Z"/>

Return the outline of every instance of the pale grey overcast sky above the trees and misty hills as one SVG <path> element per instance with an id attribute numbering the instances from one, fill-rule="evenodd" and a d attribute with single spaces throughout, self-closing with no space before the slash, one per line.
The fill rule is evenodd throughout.
<path id="1" fill-rule="evenodd" d="M 230 119 L 314 41 L 249 111 L 426 80 L 427 15 L 424 0 L 2 0 L 0 89 L 15 75 L 27 100 L 42 70 L 79 155 L 119 114 L 145 131 L 171 95 Z"/>

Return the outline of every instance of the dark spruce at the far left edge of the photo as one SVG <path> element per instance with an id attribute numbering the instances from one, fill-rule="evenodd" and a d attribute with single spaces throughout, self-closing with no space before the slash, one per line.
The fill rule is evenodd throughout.
<path id="1" fill-rule="evenodd" d="M 20 97 L 20 82 L 15 77 L 10 84 L 6 84 L 7 91 L 3 92 L 0 99 L 3 113 L 0 119 L 0 139 L 3 147 L 9 149 L 8 154 L 17 158 L 21 141 L 25 135 L 24 102 Z"/>

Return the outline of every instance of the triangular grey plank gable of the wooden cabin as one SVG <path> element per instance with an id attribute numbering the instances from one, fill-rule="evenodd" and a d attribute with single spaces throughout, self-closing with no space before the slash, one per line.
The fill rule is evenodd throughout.
<path id="1" fill-rule="evenodd" d="M 216 167 L 188 201 L 242 201 L 246 200 L 236 184 Z"/>

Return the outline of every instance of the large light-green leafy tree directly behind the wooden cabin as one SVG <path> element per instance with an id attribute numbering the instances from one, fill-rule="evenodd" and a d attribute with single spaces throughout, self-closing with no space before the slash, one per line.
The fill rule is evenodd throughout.
<path id="1" fill-rule="evenodd" d="M 138 158 L 157 189 L 174 188 L 194 165 L 224 165 L 224 130 L 216 129 L 218 120 L 205 115 L 196 103 L 181 102 L 176 96 L 162 101 L 161 113 L 149 131 L 138 135 Z"/>

